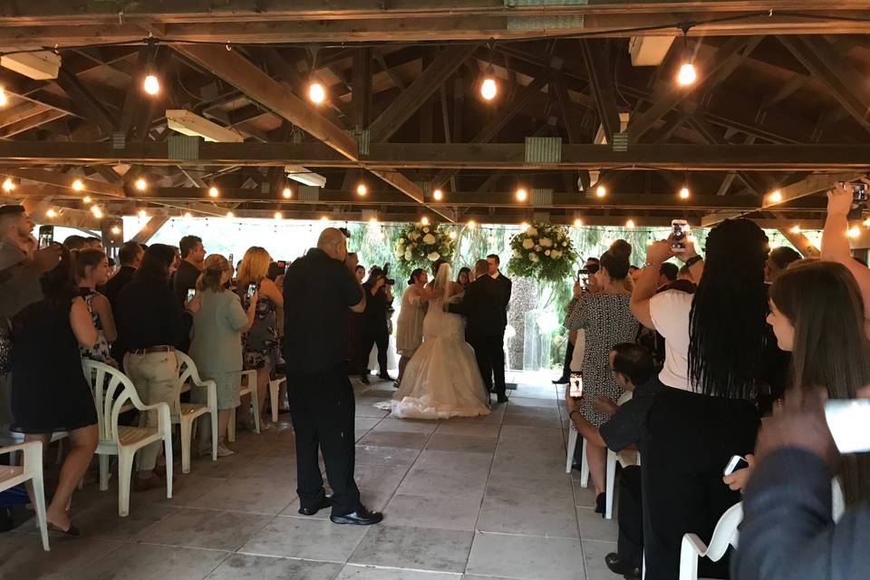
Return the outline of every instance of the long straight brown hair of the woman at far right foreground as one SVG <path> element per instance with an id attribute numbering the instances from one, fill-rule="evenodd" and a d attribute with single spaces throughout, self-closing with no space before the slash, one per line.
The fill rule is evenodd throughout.
<path id="1" fill-rule="evenodd" d="M 846 266 L 792 266 L 770 287 L 770 300 L 795 327 L 792 389 L 824 389 L 830 399 L 855 399 L 870 382 L 870 340 L 861 291 Z M 844 455 L 837 470 L 846 504 L 870 497 L 870 456 Z"/>

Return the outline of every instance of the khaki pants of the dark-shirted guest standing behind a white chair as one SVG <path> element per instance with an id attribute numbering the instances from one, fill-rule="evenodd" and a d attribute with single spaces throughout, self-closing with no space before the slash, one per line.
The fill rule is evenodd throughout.
<path id="1" fill-rule="evenodd" d="M 169 405 L 169 412 L 176 415 L 175 401 L 178 396 L 177 387 L 179 381 L 178 362 L 175 352 L 171 353 L 147 353 L 124 355 L 124 371 L 139 392 L 139 397 L 146 405 L 154 405 L 165 402 Z M 148 411 L 140 414 L 140 427 L 157 427 L 157 411 Z M 157 465 L 157 457 L 160 455 L 162 441 L 155 441 L 148 447 L 139 451 L 137 469 L 150 471 Z M 172 458 L 166 458 L 171 461 Z"/>

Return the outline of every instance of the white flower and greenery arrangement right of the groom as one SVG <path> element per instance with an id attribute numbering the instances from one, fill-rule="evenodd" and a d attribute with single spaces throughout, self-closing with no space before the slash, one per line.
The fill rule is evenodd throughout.
<path id="1" fill-rule="evenodd" d="M 571 275 L 577 253 L 567 229 L 533 224 L 510 240 L 507 272 L 527 278 L 563 281 Z"/>

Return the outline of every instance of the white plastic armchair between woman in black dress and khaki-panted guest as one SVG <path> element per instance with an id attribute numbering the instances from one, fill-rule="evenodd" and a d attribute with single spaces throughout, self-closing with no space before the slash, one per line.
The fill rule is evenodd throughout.
<path id="1" fill-rule="evenodd" d="M 166 455 L 166 497 L 172 498 L 172 418 L 169 405 L 159 402 L 146 405 L 139 398 L 136 387 L 127 375 L 102 362 L 82 359 L 84 377 L 91 382 L 93 399 L 97 406 L 97 427 L 100 442 L 100 490 L 109 488 L 109 456 L 118 456 L 118 515 L 130 513 L 130 485 L 133 459 L 136 451 L 163 440 Z M 157 411 L 157 427 L 129 427 L 118 424 L 118 416 L 125 405 L 139 411 Z M 127 407 L 129 409 L 129 406 Z"/>

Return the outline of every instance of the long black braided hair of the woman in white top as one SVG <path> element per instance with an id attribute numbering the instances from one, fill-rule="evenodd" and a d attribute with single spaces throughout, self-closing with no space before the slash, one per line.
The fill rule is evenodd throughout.
<path id="1" fill-rule="evenodd" d="M 691 304 L 689 378 L 696 392 L 750 399 L 768 341 L 768 237 L 755 222 L 730 219 L 710 231 L 706 253 Z"/>

